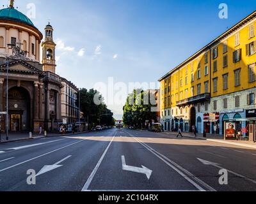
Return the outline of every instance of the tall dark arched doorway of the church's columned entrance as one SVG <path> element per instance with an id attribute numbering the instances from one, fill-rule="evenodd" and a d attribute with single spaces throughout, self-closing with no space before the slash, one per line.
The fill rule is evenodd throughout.
<path id="1" fill-rule="evenodd" d="M 9 131 L 13 133 L 31 130 L 31 105 L 29 92 L 22 87 L 8 91 Z"/>

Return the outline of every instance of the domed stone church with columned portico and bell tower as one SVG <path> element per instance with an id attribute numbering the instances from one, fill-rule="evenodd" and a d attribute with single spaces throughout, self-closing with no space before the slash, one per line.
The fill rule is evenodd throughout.
<path id="1" fill-rule="evenodd" d="M 8 96 L 10 132 L 37 132 L 40 126 L 46 131 L 58 131 L 62 122 L 64 79 L 55 73 L 53 31 L 50 24 L 46 25 L 43 39 L 31 20 L 15 10 L 13 1 L 8 8 L 0 10 L 0 112 L 6 112 Z M 67 83 L 72 84 L 65 80 Z M 74 95 L 77 92 L 78 89 Z M 6 115 L 1 115 L 0 126 L 6 131 Z"/>

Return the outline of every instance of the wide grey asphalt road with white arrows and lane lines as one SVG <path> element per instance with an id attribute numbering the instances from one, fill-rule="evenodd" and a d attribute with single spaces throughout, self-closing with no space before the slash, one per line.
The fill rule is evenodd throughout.
<path id="1" fill-rule="evenodd" d="M 0 191 L 256 191 L 256 151 L 131 129 L 3 143 Z"/>

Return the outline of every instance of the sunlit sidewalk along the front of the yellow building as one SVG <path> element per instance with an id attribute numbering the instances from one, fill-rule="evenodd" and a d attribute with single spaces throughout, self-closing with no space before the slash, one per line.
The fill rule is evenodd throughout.
<path id="1" fill-rule="evenodd" d="M 166 135 L 177 135 L 175 132 L 164 132 Z M 184 137 L 187 138 L 195 138 L 195 135 L 193 133 L 182 133 Z M 250 141 L 240 141 L 240 140 L 224 140 L 224 136 L 221 135 L 214 135 L 214 134 L 207 134 L 206 138 L 204 138 L 203 134 L 196 134 L 197 140 L 207 140 L 211 142 L 219 142 L 219 143 L 226 143 L 229 145 L 237 145 L 240 147 L 249 147 L 256 149 L 256 143 L 255 142 L 250 142 Z"/>

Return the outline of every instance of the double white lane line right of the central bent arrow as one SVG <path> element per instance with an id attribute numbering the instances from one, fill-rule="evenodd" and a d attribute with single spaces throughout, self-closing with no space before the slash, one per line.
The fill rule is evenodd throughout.
<path id="1" fill-rule="evenodd" d="M 201 186 L 199 186 L 198 184 L 196 184 L 196 182 L 194 182 L 193 180 L 189 179 L 189 177 L 195 179 L 199 184 L 201 184 L 202 186 L 204 186 L 205 188 L 209 189 L 209 191 L 216 191 L 214 188 L 212 188 L 211 186 L 209 186 L 208 184 L 206 184 L 204 181 L 198 179 L 197 177 L 195 177 L 195 175 L 193 175 L 192 173 L 190 173 L 188 170 L 185 170 L 184 168 L 182 168 L 181 166 L 179 166 L 179 164 L 175 163 L 174 161 L 172 161 L 171 159 L 169 159 L 168 157 L 164 156 L 163 154 L 157 152 L 156 150 L 152 149 L 150 146 L 148 146 L 147 144 L 141 142 L 140 140 L 138 140 L 137 138 L 135 138 L 133 135 L 131 135 L 130 133 L 128 133 L 128 135 L 132 136 L 132 138 L 134 138 L 137 142 L 139 142 L 141 145 L 143 145 L 143 147 L 145 147 L 147 150 L 149 150 L 150 152 L 152 152 L 152 154 L 154 154 L 155 156 L 157 156 L 159 159 L 161 159 L 164 163 L 166 163 L 168 166 L 170 166 L 173 170 L 175 170 L 177 173 L 179 173 L 184 179 L 188 180 L 189 183 L 191 183 L 193 186 L 195 186 L 199 191 L 205 191 L 204 188 L 202 188 Z M 181 171 L 180 171 L 181 170 Z M 186 173 L 187 175 L 185 175 L 184 173 Z"/>

